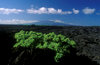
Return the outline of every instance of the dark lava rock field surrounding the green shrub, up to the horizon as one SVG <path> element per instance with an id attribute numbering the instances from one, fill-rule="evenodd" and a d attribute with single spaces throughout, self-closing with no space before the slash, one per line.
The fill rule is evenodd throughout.
<path id="1" fill-rule="evenodd" d="M 53 59 L 55 52 L 49 49 L 26 49 L 12 46 L 16 43 L 15 32 L 20 30 L 37 31 L 42 33 L 55 32 L 63 34 L 77 43 L 70 54 L 56 63 Z M 0 26 L 1 58 L 4 65 L 34 65 L 34 64 L 60 64 L 60 65 L 100 65 L 100 27 L 81 26 Z M 4 60 L 3 60 L 4 59 Z M 6 60 L 7 59 L 7 60 Z"/>

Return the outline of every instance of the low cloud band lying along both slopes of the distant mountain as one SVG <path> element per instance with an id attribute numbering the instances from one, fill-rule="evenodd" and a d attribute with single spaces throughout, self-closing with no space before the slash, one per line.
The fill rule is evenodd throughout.
<path id="1" fill-rule="evenodd" d="M 64 23 L 66 24 L 64 21 L 56 19 L 56 20 L 47 20 L 47 21 L 51 21 L 51 22 L 55 22 L 55 23 Z M 0 24 L 35 24 L 38 22 L 42 22 L 40 20 L 20 20 L 20 19 L 11 19 L 11 20 L 0 20 Z M 70 24 L 70 23 L 67 23 Z M 71 23 L 72 24 L 72 23 Z"/>

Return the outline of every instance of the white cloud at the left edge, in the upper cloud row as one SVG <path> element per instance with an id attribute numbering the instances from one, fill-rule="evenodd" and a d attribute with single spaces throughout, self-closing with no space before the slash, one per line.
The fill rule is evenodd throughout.
<path id="1" fill-rule="evenodd" d="M 0 14 L 11 14 L 11 13 L 18 14 L 20 12 L 23 12 L 23 10 L 21 10 L 21 9 L 0 8 Z"/>

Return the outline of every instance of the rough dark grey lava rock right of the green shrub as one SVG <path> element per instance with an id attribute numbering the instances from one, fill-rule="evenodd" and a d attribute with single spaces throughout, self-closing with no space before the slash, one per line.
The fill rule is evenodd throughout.
<path id="1" fill-rule="evenodd" d="M 77 43 L 77 55 L 87 56 L 100 64 L 100 27 L 76 27 L 67 34 Z"/>

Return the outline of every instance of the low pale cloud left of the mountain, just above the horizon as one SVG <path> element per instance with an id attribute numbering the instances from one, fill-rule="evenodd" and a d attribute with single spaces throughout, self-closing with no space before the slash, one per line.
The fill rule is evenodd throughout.
<path id="1" fill-rule="evenodd" d="M 18 20 L 18 19 L 12 19 L 12 20 L 0 20 L 0 24 L 26 24 L 26 23 L 35 23 L 39 22 L 38 20 Z"/>

